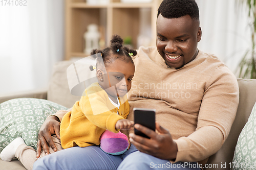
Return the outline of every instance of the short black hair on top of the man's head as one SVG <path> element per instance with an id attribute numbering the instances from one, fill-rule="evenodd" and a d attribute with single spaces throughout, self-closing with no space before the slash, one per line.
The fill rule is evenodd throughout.
<path id="1" fill-rule="evenodd" d="M 169 19 L 189 15 L 192 19 L 199 20 L 199 9 L 195 0 L 163 0 L 157 17 L 159 14 Z"/>

